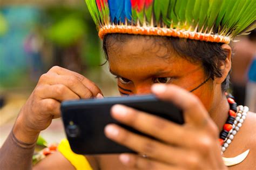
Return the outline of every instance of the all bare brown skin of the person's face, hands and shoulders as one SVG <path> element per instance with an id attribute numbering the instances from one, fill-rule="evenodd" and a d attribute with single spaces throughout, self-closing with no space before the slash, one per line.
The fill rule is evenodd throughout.
<path id="1" fill-rule="evenodd" d="M 229 110 L 227 100 L 221 92 L 221 83 L 231 69 L 230 46 L 223 45 L 223 49 L 229 52 L 220 68 L 223 70 L 223 76 L 208 81 L 192 94 L 187 91 L 196 88 L 206 79 L 201 64 L 190 63 L 170 51 L 167 53 L 168 57 L 163 58 L 161 56 L 166 56 L 166 51 L 159 50 L 161 46 L 152 44 L 153 42 L 144 38 L 132 39 L 125 45 L 116 43 L 113 49 L 119 50 L 109 49 L 110 70 L 130 80 L 128 84 L 123 84 L 120 80 L 126 79 L 118 78 L 118 85 L 122 89 L 131 91 L 129 94 L 153 92 L 159 98 L 183 108 L 186 123 L 184 126 L 179 126 L 131 108 L 113 107 L 112 116 L 115 119 L 163 142 L 134 135 L 117 125 L 107 126 L 107 137 L 134 151 L 146 154 L 149 158 L 125 154 L 126 161 L 121 164 L 118 155 L 99 156 L 96 159 L 90 157 L 92 167 L 94 169 L 99 167 L 101 169 L 149 169 L 149 167 L 151 169 L 226 169 L 221 160 L 218 134 L 225 124 Z M 153 86 L 152 89 L 154 80 L 159 77 L 172 78 L 168 85 Z M 121 88 L 119 89 L 121 93 L 127 93 Z M 52 118 L 59 117 L 59 101 L 96 97 L 98 93 L 101 93 L 98 87 L 83 76 L 54 67 L 39 80 L 35 91 L 22 108 L 14 127 L 16 137 L 24 142 L 34 142 L 39 131 L 48 127 Z M 48 109 L 44 110 L 45 108 Z M 252 169 L 256 166 L 254 161 L 256 139 L 252 131 L 255 129 L 256 117 L 252 113 L 248 114 L 248 117 L 224 156 L 234 157 L 246 149 L 251 151 L 244 162 L 231 167 L 232 169 Z M 112 131 L 109 127 L 112 127 Z M 111 135 L 110 132 L 116 133 Z M 123 140 L 124 136 L 126 140 Z M 124 155 L 121 158 L 124 158 Z M 44 159 L 35 169 L 74 169 L 74 167 L 63 155 L 56 153 Z"/>

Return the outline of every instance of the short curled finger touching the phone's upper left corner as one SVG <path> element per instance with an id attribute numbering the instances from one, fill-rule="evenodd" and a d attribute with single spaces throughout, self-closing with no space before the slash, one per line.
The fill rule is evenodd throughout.
<path id="1" fill-rule="evenodd" d="M 60 103 L 55 99 L 41 100 L 41 112 L 53 115 L 53 119 L 60 117 Z"/>

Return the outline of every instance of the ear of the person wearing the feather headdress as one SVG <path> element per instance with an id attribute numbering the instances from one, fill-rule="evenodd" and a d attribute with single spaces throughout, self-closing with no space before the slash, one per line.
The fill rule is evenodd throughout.
<path id="1" fill-rule="evenodd" d="M 232 49 L 229 45 L 223 44 L 221 45 L 222 49 L 227 52 L 227 58 L 224 62 L 221 62 L 220 70 L 222 73 L 222 76 L 219 78 L 215 78 L 215 82 L 217 84 L 223 83 L 223 81 L 226 79 L 228 73 L 231 70 L 231 56 L 232 56 Z"/>

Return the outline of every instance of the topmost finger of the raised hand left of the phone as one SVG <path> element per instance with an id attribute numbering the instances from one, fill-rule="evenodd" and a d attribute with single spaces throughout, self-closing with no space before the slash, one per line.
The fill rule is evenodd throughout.
<path id="1" fill-rule="evenodd" d="M 59 75 L 76 76 L 78 80 L 81 81 L 87 87 L 87 89 L 89 89 L 92 92 L 93 97 L 96 97 L 98 93 L 103 95 L 102 91 L 99 89 L 99 87 L 95 83 L 93 83 L 91 80 L 87 79 L 86 77 L 82 76 L 79 73 L 70 71 L 68 69 L 64 69 L 59 66 L 54 66 L 49 71 L 55 72 Z"/>

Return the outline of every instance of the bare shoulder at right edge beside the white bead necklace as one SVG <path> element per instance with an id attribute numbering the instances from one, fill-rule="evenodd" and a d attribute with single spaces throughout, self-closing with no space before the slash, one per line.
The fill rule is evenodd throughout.
<path id="1" fill-rule="evenodd" d="M 232 158 L 244 153 L 248 149 L 246 159 L 240 164 L 230 167 L 230 169 L 254 169 L 256 166 L 256 113 L 248 112 L 246 120 L 237 135 L 235 135 L 232 143 L 227 149 L 224 157 Z"/>

